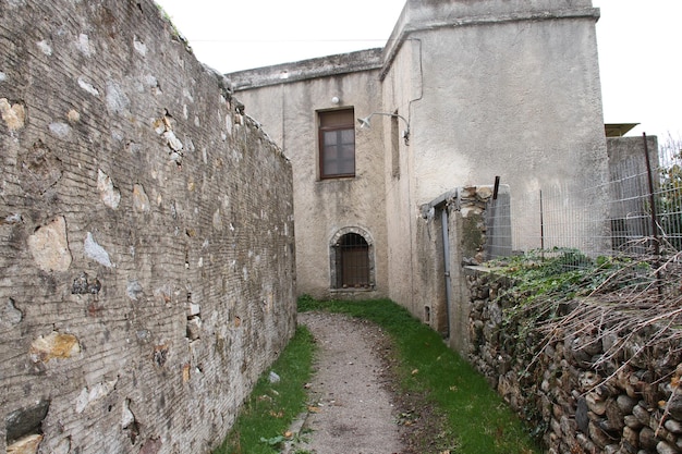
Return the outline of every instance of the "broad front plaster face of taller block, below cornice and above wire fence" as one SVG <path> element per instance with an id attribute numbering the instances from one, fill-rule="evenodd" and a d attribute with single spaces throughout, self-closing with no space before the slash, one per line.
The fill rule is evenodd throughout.
<path id="1" fill-rule="evenodd" d="M 496 175 L 512 194 L 605 180 L 594 19 L 482 24 L 419 38 L 426 50 L 425 95 L 413 105 L 417 200 L 448 191 L 449 181 L 491 184 Z M 442 83 L 450 79 L 461 83 Z"/>

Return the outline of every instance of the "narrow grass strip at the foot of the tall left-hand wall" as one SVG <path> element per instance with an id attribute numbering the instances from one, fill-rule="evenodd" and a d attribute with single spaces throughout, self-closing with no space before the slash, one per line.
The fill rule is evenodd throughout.
<path id="1" fill-rule="evenodd" d="M 312 375 L 316 351 L 313 335 L 299 327 L 275 364 L 258 379 L 232 430 L 214 454 L 279 453 L 295 417 L 305 409 L 304 384 Z M 270 371 L 280 381 L 271 383 Z"/>

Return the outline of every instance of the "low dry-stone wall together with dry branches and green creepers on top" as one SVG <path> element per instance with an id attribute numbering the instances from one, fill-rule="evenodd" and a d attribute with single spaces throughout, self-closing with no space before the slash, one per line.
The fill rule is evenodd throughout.
<path id="1" fill-rule="evenodd" d="M 491 265 L 470 282 L 472 361 L 546 445 L 682 449 L 682 254 Z"/>

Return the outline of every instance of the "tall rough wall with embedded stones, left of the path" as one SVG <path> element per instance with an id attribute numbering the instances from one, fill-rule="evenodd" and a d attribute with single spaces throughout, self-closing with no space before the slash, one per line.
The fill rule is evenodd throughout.
<path id="1" fill-rule="evenodd" d="M 229 86 L 151 0 L 0 0 L 0 452 L 208 452 L 292 335 L 291 164 Z"/>

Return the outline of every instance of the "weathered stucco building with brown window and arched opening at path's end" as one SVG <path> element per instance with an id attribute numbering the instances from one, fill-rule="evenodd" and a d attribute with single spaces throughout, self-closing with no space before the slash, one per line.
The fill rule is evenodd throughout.
<path id="1" fill-rule="evenodd" d="M 443 280 L 424 204 L 498 175 L 512 207 L 605 181 L 598 17 L 590 0 L 409 0 L 383 48 L 228 74 L 292 161 L 299 294 L 424 318 Z"/>

